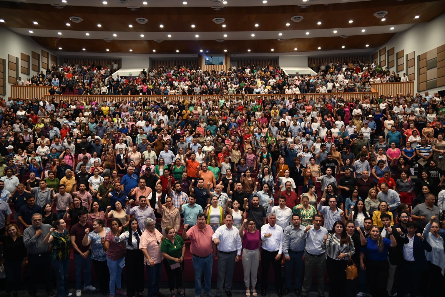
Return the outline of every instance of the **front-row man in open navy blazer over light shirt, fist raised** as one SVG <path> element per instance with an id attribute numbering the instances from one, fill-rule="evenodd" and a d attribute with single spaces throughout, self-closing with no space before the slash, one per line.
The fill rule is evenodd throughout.
<path id="1" fill-rule="evenodd" d="M 397 278 L 399 280 L 405 279 L 408 275 L 414 276 L 425 272 L 428 269 L 425 251 L 431 252 L 433 250 L 421 233 L 417 233 L 416 223 L 406 223 L 406 229 L 408 230 L 406 235 L 408 243 L 403 244 L 403 260 L 397 267 Z M 417 296 L 419 280 L 420 277 L 410 277 L 409 286 L 398 286 L 397 296 L 405 296 L 406 291 L 408 291 L 409 296 Z"/>

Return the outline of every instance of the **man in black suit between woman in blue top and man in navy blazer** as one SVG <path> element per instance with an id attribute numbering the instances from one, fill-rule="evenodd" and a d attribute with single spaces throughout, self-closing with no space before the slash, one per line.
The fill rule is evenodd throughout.
<path id="1" fill-rule="evenodd" d="M 388 214 L 383 214 L 380 216 L 380 219 L 382 220 L 383 227 L 380 229 L 380 234 L 384 238 L 389 238 L 390 234 L 387 232 L 388 228 L 391 227 L 391 216 Z M 399 236 L 394 236 L 394 238 L 397 241 L 397 245 L 394 248 L 388 249 L 388 260 L 389 260 L 389 271 L 388 271 L 388 285 L 386 286 L 386 290 L 388 291 L 388 295 L 392 296 L 392 286 L 394 285 L 394 276 L 396 274 L 396 268 L 397 265 L 403 260 L 403 252 L 402 247 L 403 244 L 408 243 L 408 239 L 406 238 L 405 234 L 401 230 L 401 228 L 396 228 L 397 233 L 399 233 Z M 393 230 L 394 232 L 394 230 Z M 395 233 L 394 233 L 395 234 Z"/>

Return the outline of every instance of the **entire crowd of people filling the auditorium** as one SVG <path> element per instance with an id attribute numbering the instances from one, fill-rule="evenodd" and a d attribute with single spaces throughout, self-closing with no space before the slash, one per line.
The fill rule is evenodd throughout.
<path id="1" fill-rule="evenodd" d="M 185 67 L 150 71 L 138 78 L 152 77 L 163 90 L 181 77 L 217 88 L 239 80 L 240 90 L 268 90 L 280 75 L 288 87 L 298 80 L 276 67 L 246 66 L 231 78 Z M 100 83 L 100 75 L 89 79 Z M 313 78 L 314 86 L 324 81 Z M 70 265 L 77 297 L 96 290 L 92 266 L 102 295 L 143 296 L 146 273 L 147 296 L 163 297 L 164 266 L 171 296 L 185 296 L 187 265 L 196 296 L 231 297 L 233 281 L 244 282 L 246 297 L 257 289 L 266 296 L 272 282 L 279 297 L 307 296 L 313 273 L 324 296 L 325 270 L 331 297 L 440 294 L 445 100 L 425 93 L 346 102 L 312 93 L 0 98 L 7 293 L 17 296 L 26 264 L 32 297 L 39 278 L 56 295 L 52 269 L 57 296 L 72 295 Z M 347 276 L 352 264 L 358 271 Z M 234 279 L 237 265 L 243 280 Z"/>

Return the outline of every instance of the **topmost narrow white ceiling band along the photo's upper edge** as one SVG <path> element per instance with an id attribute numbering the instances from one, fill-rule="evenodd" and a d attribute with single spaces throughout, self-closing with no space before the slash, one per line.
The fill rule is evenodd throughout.
<path id="1" fill-rule="evenodd" d="M 8 1 L 8 0 L 1 0 Z M 187 4 L 182 4 L 186 1 Z M 226 0 L 227 4 L 223 4 L 223 0 L 125 0 L 126 4 L 120 4 L 116 0 L 106 0 L 107 4 L 103 4 L 102 0 L 9 0 L 9 2 L 17 3 L 36 3 L 36 4 L 54 4 L 65 6 L 95 6 L 95 7 L 214 7 L 214 6 L 278 6 L 278 5 L 311 5 L 311 4 L 335 4 L 361 2 L 367 0 Z M 368 0 L 369 1 L 369 0 Z M 147 4 L 143 4 L 146 2 Z"/>

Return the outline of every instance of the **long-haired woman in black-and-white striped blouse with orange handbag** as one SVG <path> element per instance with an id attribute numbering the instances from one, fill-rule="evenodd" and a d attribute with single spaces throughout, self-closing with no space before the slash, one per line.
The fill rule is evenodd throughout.
<path id="1" fill-rule="evenodd" d="M 329 276 L 329 297 L 343 297 L 346 283 L 346 266 L 354 255 L 355 248 L 351 236 L 341 221 L 332 226 L 333 233 L 324 236 L 321 248 L 327 251 L 326 268 Z"/>

